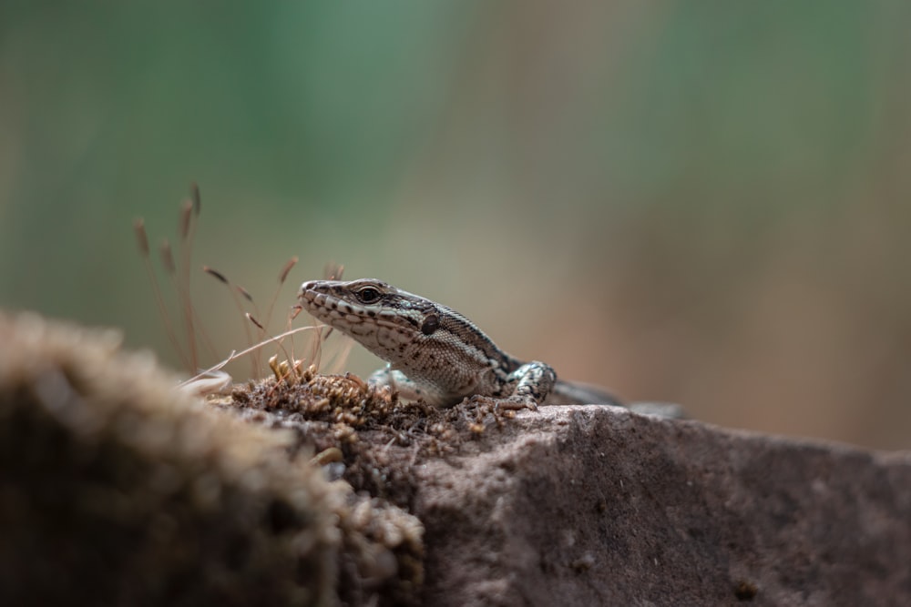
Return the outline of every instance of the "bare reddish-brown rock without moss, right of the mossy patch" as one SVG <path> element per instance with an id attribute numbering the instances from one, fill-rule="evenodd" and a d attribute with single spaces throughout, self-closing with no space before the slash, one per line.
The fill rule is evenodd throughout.
<path id="1" fill-rule="evenodd" d="M 416 470 L 425 604 L 911 604 L 911 454 L 523 412 Z"/>

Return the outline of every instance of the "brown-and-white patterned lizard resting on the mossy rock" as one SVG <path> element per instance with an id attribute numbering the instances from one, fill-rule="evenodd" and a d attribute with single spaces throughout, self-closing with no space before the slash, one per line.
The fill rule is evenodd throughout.
<path id="1" fill-rule="evenodd" d="M 623 406 L 603 389 L 558 379 L 544 362 L 507 354 L 454 309 L 375 278 L 304 282 L 298 299 L 314 318 L 384 359 L 388 364 L 370 383 L 393 387 L 405 399 L 440 408 L 466 398 L 495 400 L 515 410 L 545 404 Z M 673 411 L 659 414 L 677 417 Z"/>

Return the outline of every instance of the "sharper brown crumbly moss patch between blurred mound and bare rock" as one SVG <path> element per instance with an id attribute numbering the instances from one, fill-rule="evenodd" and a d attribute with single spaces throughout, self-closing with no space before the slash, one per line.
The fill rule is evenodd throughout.
<path id="1" fill-rule="evenodd" d="M 416 602 L 424 581 L 424 526 L 408 514 L 421 486 L 416 466 L 458 452 L 514 416 L 487 404 L 440 410 L 403 402 L 351 375 L 312 370 L 290 381 L 238 385 L 210 404 L 251 424 L 292 430 L 292 451 L 316 452 L 328 474 L 353 488 L 355 497 L 339 511 L 339 593 L 346 604 L 374 596 L 378 604 Z"/>

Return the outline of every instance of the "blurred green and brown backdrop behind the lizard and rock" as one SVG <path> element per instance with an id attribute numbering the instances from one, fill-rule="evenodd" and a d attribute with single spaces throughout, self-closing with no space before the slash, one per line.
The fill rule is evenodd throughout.
<path id="1" fill-rule="evenodd" d="M 627 399 L 908 448 L 909 31 L 906 2 L 3 3 L 0 306 L 176 366 L 131 222 L 175 238 L 196 181 L 222 354 L 201 264 L 267 302 L 299 256 L 281 316 L 335 260 Z"/>

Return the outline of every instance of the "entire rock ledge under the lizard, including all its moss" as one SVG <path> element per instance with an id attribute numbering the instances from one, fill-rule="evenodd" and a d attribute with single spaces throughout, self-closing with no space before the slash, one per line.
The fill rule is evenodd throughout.
<path id="1" fill-rule="evenodd" d="M 174 383 L 0 314 L 0 604 L 911 604 L 908 452 Z"/>

